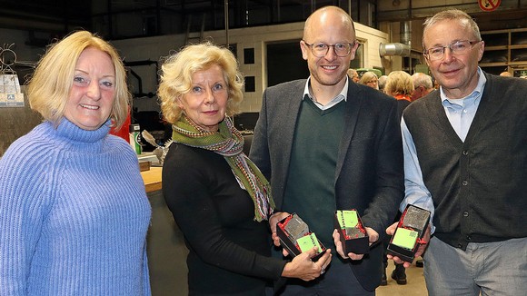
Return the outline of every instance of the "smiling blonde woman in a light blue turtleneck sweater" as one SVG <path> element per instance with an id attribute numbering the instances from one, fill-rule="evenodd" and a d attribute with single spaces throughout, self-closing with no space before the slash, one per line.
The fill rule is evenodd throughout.
<path id="1" fill-rule="evenodd" d="M 27 96 L 45 121 L 0 160 L 0 295 L 150 295 L 150 204 L 134 151 L 108 134 L 128 110 L 118 54 L 69 35 Z"/>

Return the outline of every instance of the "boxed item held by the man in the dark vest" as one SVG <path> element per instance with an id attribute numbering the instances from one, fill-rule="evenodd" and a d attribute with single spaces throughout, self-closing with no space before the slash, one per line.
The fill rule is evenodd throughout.
<path id="1" fill-rule="evenodd" d="M 408 204 L 388 244 L 387 252 L 403 261 L 412 262 L 417 248 L 423 242 L 430 216 L 430 211 Z"/>

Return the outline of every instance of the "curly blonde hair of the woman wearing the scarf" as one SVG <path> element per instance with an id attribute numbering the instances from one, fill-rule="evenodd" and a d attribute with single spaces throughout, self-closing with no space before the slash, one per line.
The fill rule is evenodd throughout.
<path id="1" fill-rule="evenodd" d="M 236 57 L 229 49 L 206 42 L 187 45 L 179 53 L 165 59 L 157 95 L 161 100 L 161 111 L 166 122 L 175 123 L 181 117 L 183 110 L 175 101 L 192 90 L 192 75 L 213 65 L 222 68 L 228 87 L 226 115 L 239 113 L 240 104 L 244 100 L 244 77 L 238 69 Z"/>

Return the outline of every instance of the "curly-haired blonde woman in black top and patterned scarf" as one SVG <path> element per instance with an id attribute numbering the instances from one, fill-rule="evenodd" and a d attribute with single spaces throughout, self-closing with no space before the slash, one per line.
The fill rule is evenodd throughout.
<path id="1" fill-rule="evenodd" d="M 212 43 L 184 47 L 164 61 L 158 94 L 173 141 L 164 158 L 163 193 L 184 233 L 190 295 L 265 295 L 267 281 L 321 275 L 316 248 L 293 261 L 271 257 L 273 198 L 243 153 L 233 116 L 244 80 L 234 54 Z"/>

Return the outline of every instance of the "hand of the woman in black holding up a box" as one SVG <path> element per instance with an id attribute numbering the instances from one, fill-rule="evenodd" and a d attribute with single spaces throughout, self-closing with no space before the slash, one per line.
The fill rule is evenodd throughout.
<path id="1" fill-rule="evenodd" d="M 318 253 L 318 248 L 301 253 L 293 258 L 293 261 L 285 264 L 282 276 L 286 278 L 298 278 L 303 281 L 312 281 L 325 271 L 332 261 L 331 250 L 327 249 L 318 261 L 313 262 L 311 259 Z"/>

